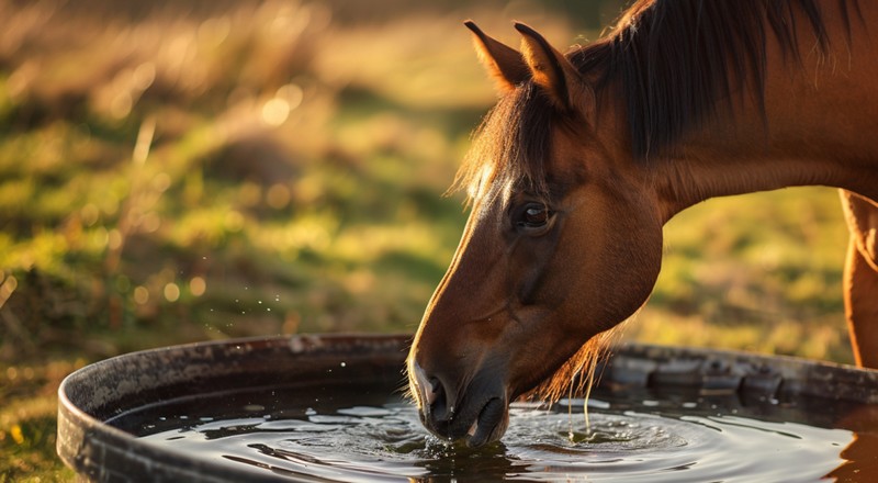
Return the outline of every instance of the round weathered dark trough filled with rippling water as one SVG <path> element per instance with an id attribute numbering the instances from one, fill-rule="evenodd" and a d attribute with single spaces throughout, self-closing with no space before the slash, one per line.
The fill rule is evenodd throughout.
<path id="1" fill-rule="evenodd" d="M 105 482 L 878 478 L 878 371 L 624 345 L 588 424 L 576 397 L 516 404 L 503 441 L 470 450 L 420 428 L 399 391 L 408 344 L 279 336 L 100 361 L 59 389 L 58 454 Z"/>

